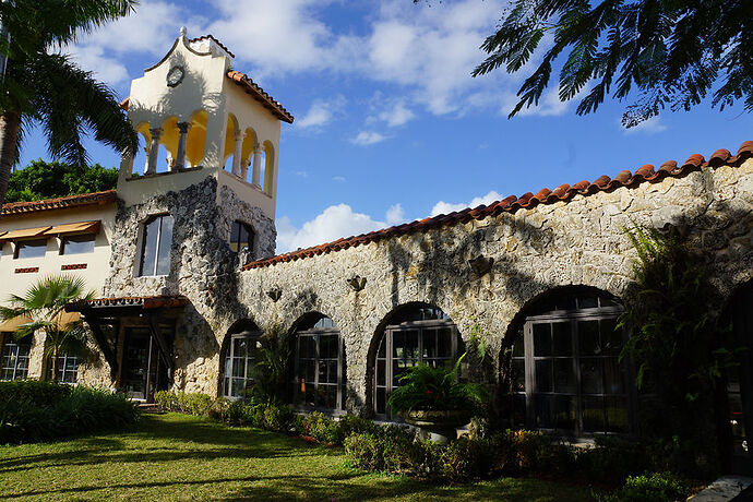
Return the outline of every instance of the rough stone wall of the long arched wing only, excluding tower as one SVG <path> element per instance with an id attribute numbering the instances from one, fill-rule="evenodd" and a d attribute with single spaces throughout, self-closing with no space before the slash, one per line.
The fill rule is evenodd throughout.
<path id="1" fill-rule="evenodd" d="M 720 297 L 753 274 L 753 160 L 704 168 L 567 202 L 431 229 L 288 263 L 241 272 L 241 302 L 262 328 L 290 328 L 316 311 L 339 326 L 348 361 L 348 403 L 360 410 L 370 394 L 370 364 L 383 321 L 398 306 L 441 308 L 467 340 L 478 324 L 498 356 L 516 314 L 552 288 L 585 285 L 621 297 L 633 250 L 631 222 L 691 232 L 708 258 Z M 474 275 L 468 260 L 493 258 Z M 347 279 L 366 277 L 355 291 Z M 266 294 L 280 289 L 274 302 Z M 495 361 L 495 364 L 498 361 Z"/>

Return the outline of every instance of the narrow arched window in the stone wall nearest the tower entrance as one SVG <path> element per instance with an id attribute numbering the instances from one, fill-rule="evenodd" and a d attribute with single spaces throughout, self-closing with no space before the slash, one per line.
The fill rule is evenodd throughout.
<path id="1" fill-rule="evenodd" d="M 223 395 L 229 398 L 246 397 L 251 384 L 254 355 L 260 349 L 262 333 L 255 324 L 248 321 L 228 334 L 223 371 Z"/>

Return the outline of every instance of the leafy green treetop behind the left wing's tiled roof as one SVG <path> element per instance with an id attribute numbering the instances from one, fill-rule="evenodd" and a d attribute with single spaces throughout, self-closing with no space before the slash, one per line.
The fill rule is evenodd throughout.
<path id="1" fill-rule="evenodd" d="M 99 164 L 77 167 L 65 163 L 33 160 L 11 175 L 7 202 L 39 201 L 76 193 L 110 190 L 118 182 L 118 170 Z"/>

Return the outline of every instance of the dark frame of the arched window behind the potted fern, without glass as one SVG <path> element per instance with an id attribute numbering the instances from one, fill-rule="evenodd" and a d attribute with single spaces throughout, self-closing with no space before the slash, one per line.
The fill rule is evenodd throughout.
<path id="1" fill-rule="evenodd" d="M 428 319 L 428 320 L 422 320 L 422 321 L 406 321 L 406 322 L 401 322 L 401 323 L 395 323 L 395 324 L 389 324 L 384 327 L 384 332 L 382 333 L 382 336 L 376 344 L 375 351 L 374 351 L 374 357 L 373 357 L 373 363 L 371 364 L 372 369 L 372 379 L 371 379 L 371 409 L 374 413 L 374 417 L 383 420 L 392 420 L 390 418 L 390 408 L 387 406 L 387 401 L 390 399 L 390 394 L 392 393 L 393 390 L 397 389 L 399 385 L 394 385 L 394 371 L 393 371 L 393 363 L 397 359 L 393 357 L 393 346 L 394 346 L 394 335 L 395 333 L 402 333 L 402 332 L 407 332 L 407 331 L 417 331 L 418 332 L 418 358 L 416 359 L 417 363 L 423 362 L 425 359 L 428 360 L 447 360 L 451 361 L 452 364 L 455 364 L 457 361 L 457 358 L 461 356 L 459 350 L 463 348 L 463 339 L 461 338 L 461 333 L 457 328 L 457 325 L 446 315 L 442 310 L 438 308 L 431 308 L 435 312 L 440 312 L 443 316 L 443 319 Z M 423 331 L 433 331 L 433 330 L 441 330 L 441 328 L 449 328 L 450 330 L 450 357 L 433 357 L 433 358 L 425 358 L 423 357 Z M 380 351 L 382 344 L 385 344 L 384 347 L 384 357 L 380 357 Z M 403 358 L 405 359 L 405 357 Z M 414 359 L 414 358 L 410 358 Z M 384 361 L 384 384 L 380 384 L 380 372 L 379 372 L 379 361 L 383 360 Z M 384 413 L 381 413 L 379 410 L 379 393 L 384 392 Z"/>

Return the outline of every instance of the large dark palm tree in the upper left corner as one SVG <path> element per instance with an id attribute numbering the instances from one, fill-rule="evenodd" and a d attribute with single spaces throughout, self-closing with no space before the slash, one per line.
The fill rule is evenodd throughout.
<path id="1" fill-rule="evenodd" d="M 94 138 L 125 154 L 138 145 L 115 93 L 59 50 L 108 21 L 131 13 L 138 0 L 0 0 L 0 205 L 24 131 L 39 123 L 53 158 L 83 166 L 81 143 Z M 2 68 L 0 68 L 0 71 Z"/>

